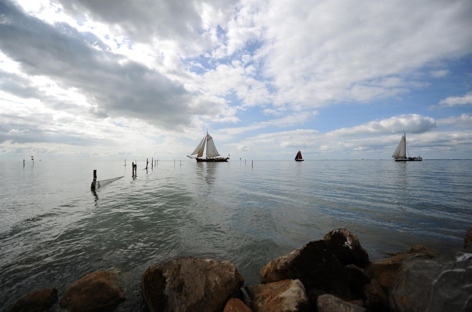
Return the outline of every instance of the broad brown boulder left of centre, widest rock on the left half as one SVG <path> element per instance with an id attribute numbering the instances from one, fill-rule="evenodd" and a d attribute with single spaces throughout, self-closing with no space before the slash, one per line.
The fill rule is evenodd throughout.
<path id="1" fill-rule="evenodd" d="M 151 312 L 221 312 L 243 283 L 229 261 L 177 258 L 147 268 L 141 291 Z"/>

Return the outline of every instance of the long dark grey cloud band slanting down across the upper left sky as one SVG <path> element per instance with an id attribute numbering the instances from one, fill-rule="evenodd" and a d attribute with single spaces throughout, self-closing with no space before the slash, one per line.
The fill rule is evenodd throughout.
<path id="1" fill-rule="evenodd" d="M 79 89 L 96 106 L 91 113 L 140 118 L 167 129 L 190 123 L 193 94 L 159 72 L 107 51 L 94 34 L 66 23 L 46 24 L 11 2 L 0 2 L 0 14 L 0 50 L 26 74 Z M 104 50 L 92 47 L 95 41 Z M 24 96 L 35 92 L 6 87 Z"/>

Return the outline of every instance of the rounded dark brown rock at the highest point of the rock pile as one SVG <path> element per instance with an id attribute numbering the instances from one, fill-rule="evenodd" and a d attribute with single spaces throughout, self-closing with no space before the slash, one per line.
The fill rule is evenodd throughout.
<path id="1" fill-rule="evenodd" d="M 328 247 L 343 265 L 365 268 L 369 265 L 369 255 L 362 248 L 357 236 L 346 229 L 336 229 L 324 236 Z"/>

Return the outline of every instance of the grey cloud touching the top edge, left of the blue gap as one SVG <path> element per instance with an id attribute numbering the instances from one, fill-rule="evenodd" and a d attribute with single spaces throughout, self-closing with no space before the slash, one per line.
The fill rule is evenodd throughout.
<path id="1" fill-rule="evenodd" d="M 199 8 L 212 5 L 215 10 L 226 10 L 234 0 L 58 0 L 64 11 L 77 18 L 85 15 L 119 26 L 121 31 L 133 41 L 149 42 L 152 38 L 172 39 L 189 47 L 194 42 L 199 46 L 211 45 L 208 36 L 201 36 L 202 19 Z"/>

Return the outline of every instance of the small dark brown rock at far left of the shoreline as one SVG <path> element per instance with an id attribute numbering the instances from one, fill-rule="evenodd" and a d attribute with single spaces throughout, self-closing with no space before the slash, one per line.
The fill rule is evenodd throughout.
<path id="1" fill-rule="evenodd" d="M 21 297 L 10 312 L 42 312 L 57 302 L 57 290 L 46 288 Z"/>

